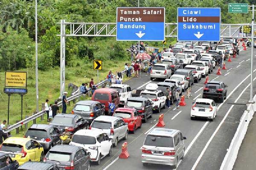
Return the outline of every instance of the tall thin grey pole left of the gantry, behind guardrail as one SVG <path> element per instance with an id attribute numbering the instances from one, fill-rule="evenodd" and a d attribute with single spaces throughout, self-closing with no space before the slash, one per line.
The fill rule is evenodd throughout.
<path id="1" fill-rule="evenodd" d="M 36 112 L 38 109 L 38 67 L 37 67 L 37 0 L 36 0 Z"/>

